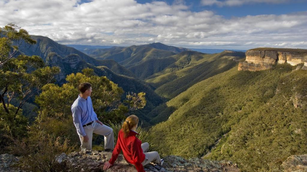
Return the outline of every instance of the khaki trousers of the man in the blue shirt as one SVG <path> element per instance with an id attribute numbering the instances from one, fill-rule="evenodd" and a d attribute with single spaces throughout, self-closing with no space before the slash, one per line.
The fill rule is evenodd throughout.
<path id="1" fill-rule="evenodd" d="M 93 133 L 104 136 L 104 149 L 114 148 L 114 134 L 113 129 L 107 125 L 101 125 L 94 121 L 91 125 L 87 125 L 84 128 L 86 135 L 88 136 L 88 141 L 83 142 L 83 137 L 79 135 L 81 141 L 81 150 L 91 150 L 92 149 L 92 138 Z"/>

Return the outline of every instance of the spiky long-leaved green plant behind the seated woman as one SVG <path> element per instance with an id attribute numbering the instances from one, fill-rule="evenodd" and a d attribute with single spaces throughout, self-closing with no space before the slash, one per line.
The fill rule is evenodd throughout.
<path id="1" fill-rule="evenodd" d="M 122 128 L 123 122 L 114 122 L 109 121 L 108 125 L 113 129 L 115 144 L 118 138 L 119 130 Z M 138 128 L 135 130 L 140 135 L 137 135 L 138 139 L 142 141 L 142 143 L 147 142 L 149 144 L 149 151 L 158 151 L 157 142 L 154 139 L 154 135 L 149 131 L 142 128 L 142 124 L 138 125 Z"/>

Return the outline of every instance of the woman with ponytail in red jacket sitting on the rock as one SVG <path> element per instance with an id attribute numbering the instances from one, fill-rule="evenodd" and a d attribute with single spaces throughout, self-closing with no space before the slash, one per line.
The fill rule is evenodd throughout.
<path id="1" fill-rule="evenodd" d="M 135 115 L 130 115 L 126 118 L 122 124 L 122 129 L 119 130 L 118 139 L 112 157 L 109 162 L 106 162 L 103 166 L 103 170 L 110 168 L 120 151 L 123 152 L 125 160 L 127 163 L 132 164 L 138 170 L 138 172 L 145 172 L 143 166 L 153 162 L 162 165 L 163 159 L 157 151 L 148 152 L 149 144 L 147 142 L 143 143 L 139 140 L 136 135 L 135 129 L 138 127 L 138 117 Z"/>

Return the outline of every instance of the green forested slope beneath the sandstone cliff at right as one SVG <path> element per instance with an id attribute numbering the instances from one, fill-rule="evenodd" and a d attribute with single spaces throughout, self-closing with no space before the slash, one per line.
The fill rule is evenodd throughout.
<path id="1" fill-rule="evenodd" d="M 175 111 L 151 129 L 161 152 L 202 157 L 222 138 L 210 157 L 247 171 L 278 169 L 288 156 L 307 153 L 307 71 L 295 68 L 235 66 L 193 85 L 166 103 L 164 110 Z"/>

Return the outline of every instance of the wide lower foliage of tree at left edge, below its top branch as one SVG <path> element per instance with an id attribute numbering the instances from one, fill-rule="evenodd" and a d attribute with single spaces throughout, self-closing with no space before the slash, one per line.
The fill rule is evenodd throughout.
<path id="1" fill-rule="evenodd" d="M 38 94 L 45 84 L 54 82 L 53 76 L 59 73 L 57 67 L 44 67 L 45 64 L 38 56 L 19 55 L 17 58 L 10 58 L 0 69 L 0 98 L 2 107 L 9 113 L 9 106 L 12 99 L 17 99 L 19 104 L 15 113 L 34 95 Z M 6 105 L 7 103 L 7 105 Z"/>

